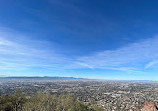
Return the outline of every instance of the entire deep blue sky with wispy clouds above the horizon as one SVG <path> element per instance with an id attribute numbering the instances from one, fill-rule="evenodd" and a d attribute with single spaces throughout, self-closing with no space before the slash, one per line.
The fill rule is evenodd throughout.
<path id="1" fill-rule="evenodd" d="M 2 77 L 157 74 L 157 0 L 0 0 Z"/>

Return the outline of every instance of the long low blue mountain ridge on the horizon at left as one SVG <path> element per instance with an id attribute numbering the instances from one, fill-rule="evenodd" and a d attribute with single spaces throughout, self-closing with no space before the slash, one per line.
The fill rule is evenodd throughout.
<path id="1" fill-rule="evenodd" d="M 86 78 L 75 78 L 75 77 L 49 77 L 49 76 L 33 76 L 33 77 L 28 77 L 28 76 L 12 76 L 12 77 L 0 77 L 3 79 L 55 79 L 55 80 L 88 80 Z"/>

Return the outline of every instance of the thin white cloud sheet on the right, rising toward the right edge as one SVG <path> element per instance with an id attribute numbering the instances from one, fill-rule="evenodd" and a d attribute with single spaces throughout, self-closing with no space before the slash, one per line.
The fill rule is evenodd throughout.
<path id="1" fill-rule="evenodd" d="M 129 44 L 116 50 L 97 52 L 77 59 L 78 67 L 116 70 L 143 70 L 144 62 L 158 58 L 158 37 Z M 74 64 L 76 64 L 74 63 Z M 85 65 L 86 64 L 86 65 Z M 150 63 L 152 66 L 154 63 Z M 130 68 L 129 68 L 130 67 Z M 125 69 L 124 69 L 125 68 Z"/>

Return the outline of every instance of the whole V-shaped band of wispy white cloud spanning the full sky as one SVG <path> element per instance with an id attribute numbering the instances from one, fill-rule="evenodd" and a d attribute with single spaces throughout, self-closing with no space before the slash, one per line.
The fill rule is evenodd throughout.
<path id="1" fill-rule="evenodd" d="M 158 37 L 71 58 L 61 54 L 48 41 L 30 40 L 18 34 L 14 36 L 8 31 L 0 32 L 0 70 L 86 68 L 140 73 L 158 64 Z"/>

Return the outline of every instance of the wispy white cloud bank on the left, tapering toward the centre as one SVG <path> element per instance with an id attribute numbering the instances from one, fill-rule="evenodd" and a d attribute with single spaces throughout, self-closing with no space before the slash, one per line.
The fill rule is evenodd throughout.
<path id="1" fill-rule="evenodd" d="M 55 47 L 50 48 L 52 45 L 47 41 L 29 40 L 17 34 L 14 36 L 14 33 L 0 32 L 1 70 L 31 67 L 62 68 L 71 61 L 58 54 Z"/>

